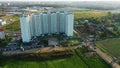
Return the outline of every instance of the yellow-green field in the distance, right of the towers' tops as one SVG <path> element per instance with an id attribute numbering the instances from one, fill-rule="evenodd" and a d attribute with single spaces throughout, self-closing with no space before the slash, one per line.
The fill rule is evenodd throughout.
<path id="1" fill-rule="evenodd" d="M 74 14 L 75 20 L 79 18 L 91 18 L 91 17 L 100 18 L 107 15 L 107 13 L 97 11 L 72 11 L 72 13 Z"/>

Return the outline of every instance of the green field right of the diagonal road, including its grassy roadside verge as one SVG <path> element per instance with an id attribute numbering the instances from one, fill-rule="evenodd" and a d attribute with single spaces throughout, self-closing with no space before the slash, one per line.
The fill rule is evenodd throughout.
<path id="1" fill-rule="evenodd" d="M 99 47 L 106 54 L 112 57 L 117 57 L 117 62 L 120 64 L 120 38 L 98 41 L 97 47 Z"/>

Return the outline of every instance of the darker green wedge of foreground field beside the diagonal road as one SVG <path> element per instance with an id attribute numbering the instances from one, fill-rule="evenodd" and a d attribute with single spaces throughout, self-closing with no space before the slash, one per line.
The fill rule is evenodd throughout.
<path id="1" fill-rule="evenodd" d="M 96 54 L 93 57 L 86 57 L 83 53 L 81 53 L 81 50 L 75 50 L 75 52 L 81 58 L 81 60 L 87 65 L 87 68 L 107 68 L 107 67 L 110 67 L 103 59 L 101 59 Z M 95 63 L 99 63 L 99 64 L 95 64 Z"/>

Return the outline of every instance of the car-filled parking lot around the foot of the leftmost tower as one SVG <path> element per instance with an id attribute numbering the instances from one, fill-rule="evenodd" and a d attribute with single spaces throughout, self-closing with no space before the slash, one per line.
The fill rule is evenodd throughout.
<path id="1" fill-rule="evenodd" d="M 29 50 L 34 48 L 41 48 L 43 45 L 36 44 L 36 39 L 34 39 L 34 42 L 30 45 L 20 45 L 18 38 L 13 38 L 5 47 L 0 47 L 0 52 L 7 52 L 7 51 L 17 51 L 17 50 Z"/>

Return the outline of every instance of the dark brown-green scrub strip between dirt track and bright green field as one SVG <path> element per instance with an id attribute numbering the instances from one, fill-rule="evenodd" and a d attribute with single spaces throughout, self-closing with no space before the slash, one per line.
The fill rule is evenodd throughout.
<path id="1" fill-rule="evenodd" d="M 72 55 L 73 55 L 72 50 L 65 50 L 65 51 L 52 51 L 45 53 L 18 54 L 18 55 L 13 55 L 12 57 L 16 59 L 24 59 L 24 60 L 50 60 L 50 59 L 70 57 Z"/>

